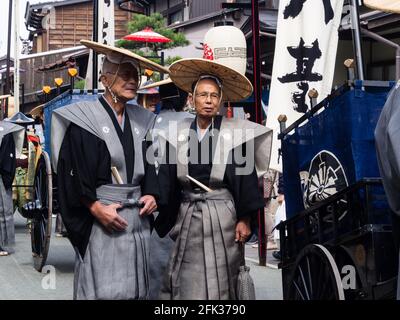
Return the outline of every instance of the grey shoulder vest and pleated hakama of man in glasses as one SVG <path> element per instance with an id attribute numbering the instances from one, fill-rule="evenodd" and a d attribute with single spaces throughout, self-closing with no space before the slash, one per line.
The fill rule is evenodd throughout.
<path id="1" fill-rule="evenodd" d="M 188 165 L 180 160 L 188 154 L 192 120 L 184 121 L 177 137 L 168 137 L 176 146 L 177 176 L 184 195 L 178 218 L 170 236 L 175 240 L 164 278 L 161 299 L 227 300 L 237 299 L 236 288 L 241 262 L 240 247 L 235 242 L 237 215 L 231 192 L 221 185 L 229 151 L 250 140 L 258 152 L 255 167 L 259 176 L 268 169 L 271 131 L 249 121 L 223 119 L 210 175 L 212 192 L 196 192 L 186 178 Z M 233 129 L 242 128 L 242 135 Z M 245 129 L 253 129 L 253 136 Z M 237 132 L 236 132 L 237 133 Z M 262 159 L 262 162 L 257 162 Z"/>

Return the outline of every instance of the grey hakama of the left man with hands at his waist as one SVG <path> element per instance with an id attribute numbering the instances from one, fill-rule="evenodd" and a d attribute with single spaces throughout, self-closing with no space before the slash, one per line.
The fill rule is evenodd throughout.
<path id="1" fill-rule="evenodd" d="M 103 185 L 97 189 L 100 201 L 109 205 L 139 199 L 140 187 Z M 149 220 L 139 216 L 138 207 L 126 207 L 118 214 L 128 222 L 122 232 L 108 234 L 95 221 L 82 260 L 75 262 L 75 299 L 146 299 L 149 276 Z"/>

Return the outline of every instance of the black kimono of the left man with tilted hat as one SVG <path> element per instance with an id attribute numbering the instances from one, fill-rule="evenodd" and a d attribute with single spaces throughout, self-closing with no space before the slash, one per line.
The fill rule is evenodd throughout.
<path id="1" fill-rule="evenodd" d="M 100 102 L 113 121 L 124 148 L 127 177 L 134 173 L 134 144 L 131 126 L 125 112 L 124 130 L 104 98 Z M 143 155 L 149 145 L 142 143 Z M 144 159 L 145 160 L 145 159 Z M 145 176 L 141 182 L 142 194 L 159 197 L 154 165 L 145 163 Z M 111 158 L 106 143 L 85 129 L 71 123 L 65 134 L 57 165 L 57 185 L 60 211 L 71 243 L 83 257 L 88 244 L 94 217 L 81 202 L 98 200 L 96 189 L 111 184 Z"/>

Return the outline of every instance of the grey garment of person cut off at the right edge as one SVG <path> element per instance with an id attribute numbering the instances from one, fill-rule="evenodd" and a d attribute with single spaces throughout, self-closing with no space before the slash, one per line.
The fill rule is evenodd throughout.
<path id="1" fill-rule="evenodd" d="M 400 219 L 400 81 L 389 93 L 382 109 L 375 129 L 375 140 L 385 193 L 390 208 Z M 400 230 L 393 232 L 399 235 Z M 400 263 L 397 300 L 400 300 Z"/>

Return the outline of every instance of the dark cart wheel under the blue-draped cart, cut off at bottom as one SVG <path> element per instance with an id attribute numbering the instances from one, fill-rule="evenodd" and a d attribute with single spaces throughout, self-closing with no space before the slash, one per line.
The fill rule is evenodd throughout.
<path id="1" fill-rule="evenodd" d="M 324 246 L 310 244 L 300 252 L 285 300 L 344 300 L 339 270 Z"/>

